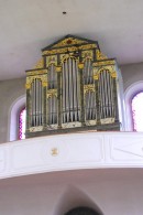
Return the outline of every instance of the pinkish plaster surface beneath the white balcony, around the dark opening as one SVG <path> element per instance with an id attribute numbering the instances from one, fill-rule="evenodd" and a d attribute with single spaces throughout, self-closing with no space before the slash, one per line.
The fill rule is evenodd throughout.
<path id="1" fill-rule="evenodd" d="M 53 172 L 0 183 L 2 215 L 64 215 L 76 206 L 103 215 L 142 215 L 142 169 Z"/>

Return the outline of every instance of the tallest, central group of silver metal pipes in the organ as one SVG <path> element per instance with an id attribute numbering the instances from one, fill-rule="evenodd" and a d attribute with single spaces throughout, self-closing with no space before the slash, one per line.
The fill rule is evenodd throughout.
<path id="1" fill-rule="evenodd" d="M 77 62 L 68 57 L 63 63 L 63 122 L 79 120 L 79 83 Z"/>

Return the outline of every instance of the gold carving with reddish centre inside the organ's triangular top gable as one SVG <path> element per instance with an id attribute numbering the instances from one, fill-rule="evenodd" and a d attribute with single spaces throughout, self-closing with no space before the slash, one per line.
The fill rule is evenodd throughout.
<path id="1" fill-rule="evenodd" d="M 62 46 L 67 46 L 67 45 L 78 45 L 78 44 L 82 44 L 82 43 L 88 43 L 88 42 L 84 41 L 84 40 L 79 40 L 79 39 L 68 37 L 68 39 L 64 39 L 59 43 L 53 45 L 53 47 L 62 47 Z"/>

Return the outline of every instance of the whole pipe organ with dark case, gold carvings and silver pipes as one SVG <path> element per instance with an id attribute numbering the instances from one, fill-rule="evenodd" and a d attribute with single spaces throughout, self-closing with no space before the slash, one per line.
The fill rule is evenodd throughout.
<path id="1" fill-rule="evenodd" d="M 116 60 L 97 41 L 67 35 L 48 45 L 26 71 L 26 138 L 121 130 L 120 82 Z"/>

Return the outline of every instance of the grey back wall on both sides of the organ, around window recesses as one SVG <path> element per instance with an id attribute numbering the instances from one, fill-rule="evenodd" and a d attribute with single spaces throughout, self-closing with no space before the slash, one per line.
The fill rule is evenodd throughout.
<path id="1" fill-rule="evenodd" d="M 124 92 L 135 82 L 143 80 L 143 63 L 120 66 Z M 25 78 L 0 82 L 0 143 L 9 141 L 10 109 L 25 94 Z"/>

